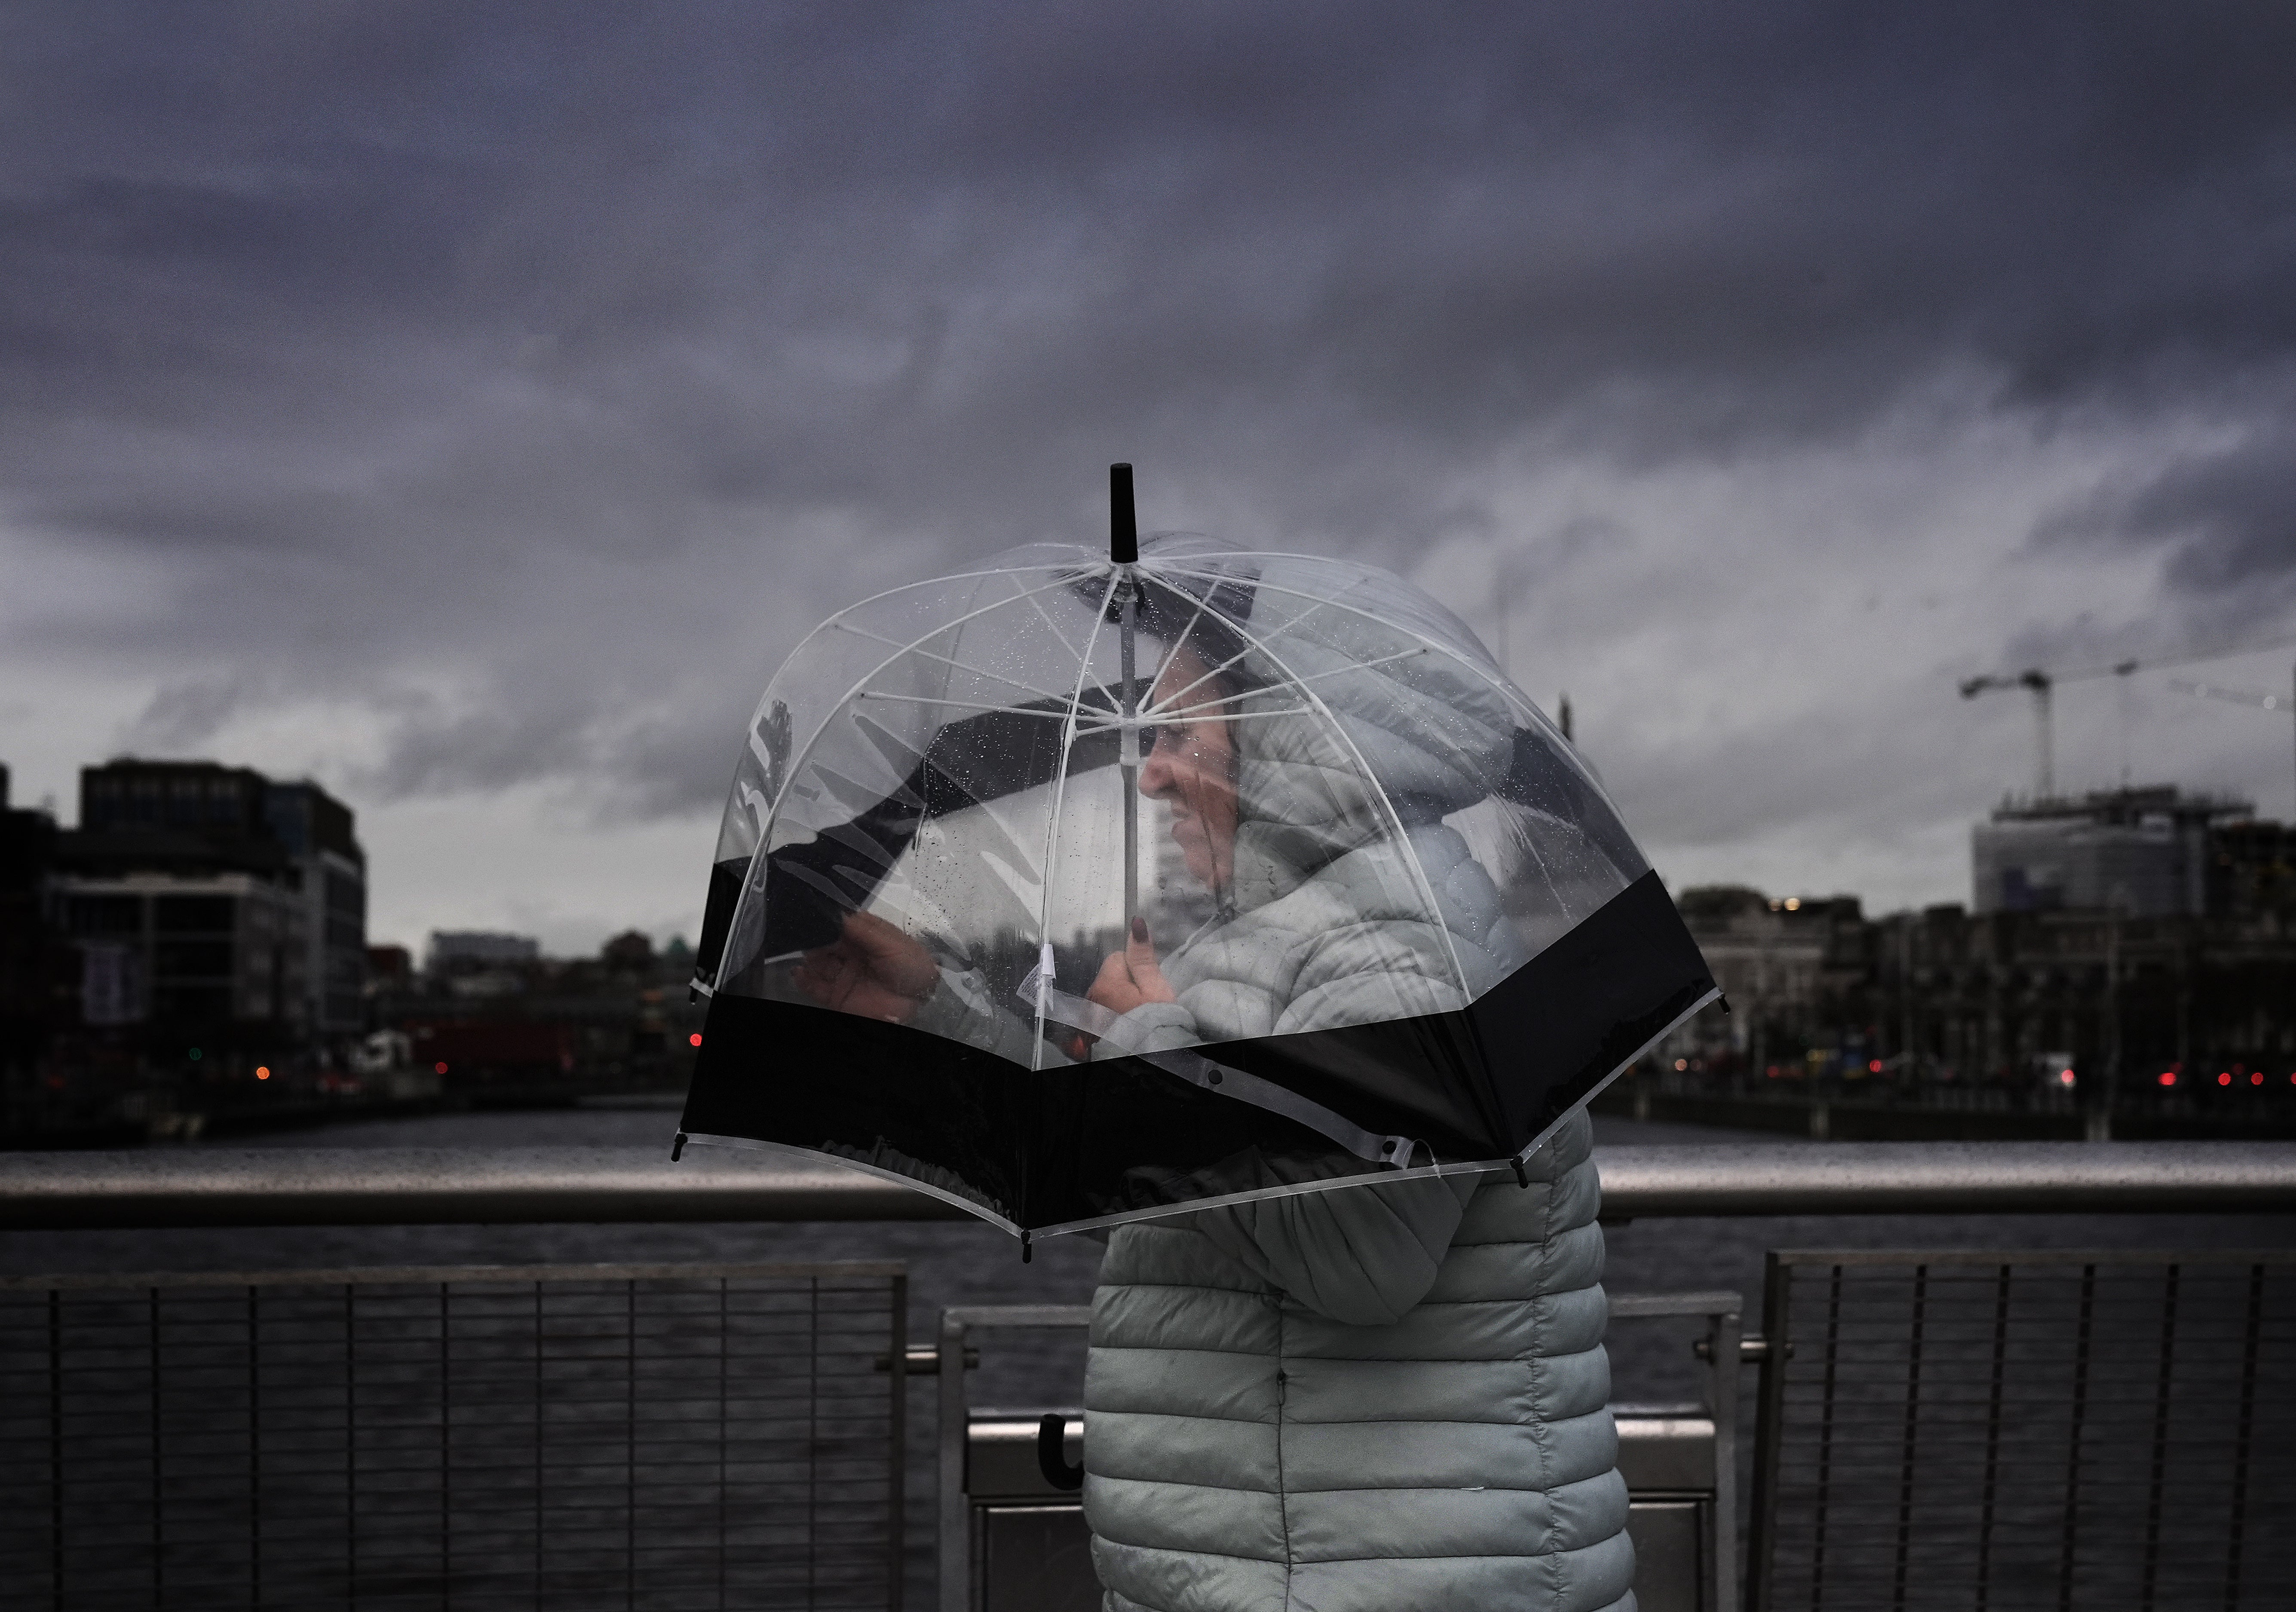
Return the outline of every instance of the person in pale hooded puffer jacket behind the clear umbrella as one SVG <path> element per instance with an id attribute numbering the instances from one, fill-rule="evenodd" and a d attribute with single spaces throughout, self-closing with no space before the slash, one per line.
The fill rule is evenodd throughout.
<path id="1" fill-rule="evenodd" d="M 1189 659 L 1176 687 L 1203 675 Z M 1350 700 L 1348 682 L 1322 721 L 1157 730 L 1141 790 L 1221 916 L 1169 958 L 1134 928 L 1091 992 L 1120 1015 L 1107 1052 L 1442 1013 L 1527 958 L 1437 817 L 1481 797 L 1474 751 L 1506 712 L 1368 677 Z M 1359 783 L 1366 753 L 1421 804 L 1401 836 Z M 1632 1610 L 1584 1111 L 1527 1176 L 1111 1233 L 1084 1389 L 1107 1612 Z"/>

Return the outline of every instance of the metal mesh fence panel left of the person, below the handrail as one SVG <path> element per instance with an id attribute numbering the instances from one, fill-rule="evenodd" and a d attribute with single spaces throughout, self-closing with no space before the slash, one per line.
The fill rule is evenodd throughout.
<path id="1" fill-rule="evenodd" d="M 9 1607 L 898 1605 L 900 1265 L 0 1284 Z"/>

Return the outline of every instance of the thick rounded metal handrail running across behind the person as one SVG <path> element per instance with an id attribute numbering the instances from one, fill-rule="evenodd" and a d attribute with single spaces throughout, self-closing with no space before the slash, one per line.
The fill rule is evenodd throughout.
<path id="1" fill-rule="evenodd" d="M 1609 1219 L 2296 1212 L 2275 1141 L 1793 1141 L 1596 1148 Z M 767 1155 L 654 1148 L 149 1148 L 0 1155 L 0 1229 L 969 1219 Z"/>

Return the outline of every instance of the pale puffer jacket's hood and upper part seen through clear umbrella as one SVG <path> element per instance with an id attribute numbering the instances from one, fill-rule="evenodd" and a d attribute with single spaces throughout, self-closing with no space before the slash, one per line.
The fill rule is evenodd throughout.
<path id="1" fill-rule="evenodd" d="M 1205 659 L 1235 668 L 1203 696 L 1238 714 L 1231 882 L 1162 958 L 1176 1001 L 1125 1013 L 1102 1056 L 1453 1013 L 1529 960 L 1444 822 L 1506 776 L 1515 723 L 1492 684 L 1341 611 L 1254 620 Z"/>

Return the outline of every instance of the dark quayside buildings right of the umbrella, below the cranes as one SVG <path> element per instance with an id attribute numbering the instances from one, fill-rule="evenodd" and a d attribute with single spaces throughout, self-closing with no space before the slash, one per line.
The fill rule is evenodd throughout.
<path id="1" fill-rule="evenodd" d="M 1685 889 L 1731 1001 L 1665 1049 L 1745 1082 L 2296 1098 L 2296 829 L 2174 788 L 2009 801 L 1972 900 Z"/>

